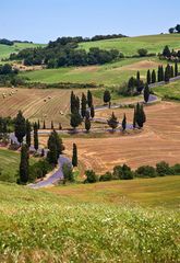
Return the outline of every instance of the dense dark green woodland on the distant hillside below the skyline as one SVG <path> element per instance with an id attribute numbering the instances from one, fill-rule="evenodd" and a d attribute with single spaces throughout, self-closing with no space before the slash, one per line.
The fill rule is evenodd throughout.
<path id="1" fill-rule="evenodd" d="M 92 38 L 59 37 L 55 42 L 49 42 L 46 47 L 26 48 L 17 54 L 11 54 L 11 60 L 23 60 L 25 66 L 47 65 L 48 68 L 58 68 L 67 66 L 86 66 L 103 65 L 110 62 L 123 55 L 118 49 L 105 50 L 100 48 L 91 48 L 89 52 L 80 49 L 82 42 L 101 41 L 110 38 L 127 37 L 122 34 L 96 35 Z"/>

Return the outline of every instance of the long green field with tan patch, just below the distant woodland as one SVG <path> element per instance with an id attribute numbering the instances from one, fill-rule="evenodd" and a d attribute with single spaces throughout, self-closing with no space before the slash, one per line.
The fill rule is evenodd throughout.
<path id="1" fill-rule="evenodd" d="M 32 82 L 58 83 L 98 83 L 98 84 L 121 84 L 129 77 L 135 76 L 140 70 L 142 78 L 146 77 L 147 69 L 156 69 L 159 60 L 157 58 L 129 58 L 103 66 L 43 69 L 31 72 L 22 72 Z M 160 61 L 160 64 L 163 64 Z M 166 61 L 164 61 L 166 64 Z"/>

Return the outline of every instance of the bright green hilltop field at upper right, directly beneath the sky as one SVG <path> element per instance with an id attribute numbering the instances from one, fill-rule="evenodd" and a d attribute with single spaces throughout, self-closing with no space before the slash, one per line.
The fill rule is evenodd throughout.
<path id="1" fill-rule="evenodd" d="M 165 45 L 170 48 L 180 49 L 180 34 L 146 35 L 137 37 L 125 37 L 98 42 L 86 42 L 80 44 L 80 47 L 88 50 L 91 47 L 104 49 L 117 48 L 124 55 L 135 55 L 137 49 L 146 48 L 148 53 L 160 53 Z"/>

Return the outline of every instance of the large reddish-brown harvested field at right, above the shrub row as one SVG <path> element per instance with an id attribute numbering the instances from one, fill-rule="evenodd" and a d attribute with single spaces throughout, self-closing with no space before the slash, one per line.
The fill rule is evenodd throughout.
<path id="1" fill-rule="evenodd" d="M 127 113 L 132 122 L 133 110 L 115 110 L 119 117 Z M 159 161 L 171 164 L 180 162 L 180 104 L 163 102 L 145 108 L 147 123 L 136 135 L 111 135 L 109 138 L 64 139 L 67 153 L 72 153 L 72 144 L 79 149 L 79 159 L 84 169 L 96 172 L 111 170 L 117 164 L 128 163 L 132 168 L 154 165 Z M 111 110 L 99 111 L 96 116 L 108 117 Z"/>

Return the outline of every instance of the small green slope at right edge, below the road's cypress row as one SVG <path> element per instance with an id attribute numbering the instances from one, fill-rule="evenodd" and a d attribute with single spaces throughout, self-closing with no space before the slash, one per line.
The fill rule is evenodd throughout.
<path id="1" fill-rule="evenodd" d="M 163 99 L 180 100 L 180 81 L 168 83 L 153 89 L 154 93 Z"/>

